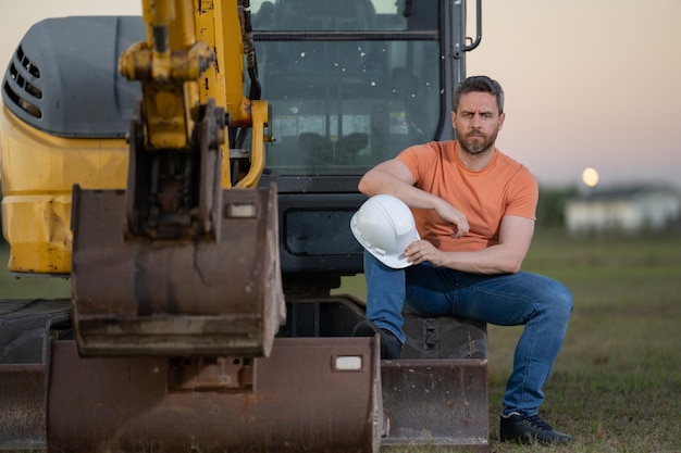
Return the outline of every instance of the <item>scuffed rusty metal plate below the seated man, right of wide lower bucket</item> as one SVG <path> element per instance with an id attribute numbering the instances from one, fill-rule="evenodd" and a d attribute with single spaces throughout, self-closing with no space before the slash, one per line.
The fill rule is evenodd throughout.
<path id="1" fill-rule="evenodd" d="M 487 361 L 383 361 L 387 448 L 438 445 L 488 452 Z"/>

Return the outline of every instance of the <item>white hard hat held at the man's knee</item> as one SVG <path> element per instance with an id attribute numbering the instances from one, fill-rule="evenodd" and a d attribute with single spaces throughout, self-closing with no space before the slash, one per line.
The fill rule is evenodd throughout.
<path id="1" fill-rule="evenodd" d="M 352 215 L 350 229 L 364 249 L 393 268 L 411 265 L 407 262 L 405 250 L 421 239 L 409 206 L 387 194 L 367 200 Z"/>

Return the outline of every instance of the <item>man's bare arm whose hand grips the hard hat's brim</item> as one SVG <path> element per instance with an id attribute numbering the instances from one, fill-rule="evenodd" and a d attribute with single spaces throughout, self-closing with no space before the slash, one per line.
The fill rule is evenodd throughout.
<path id="1" fill-rule="evenodd" d="M 425 240 L 410 244 L 405 254 L 414 264 L 424 261 L 475 274 L 513 274 L 520 270 L 534 235 L 534 221 L 506 215 L 499 228 L 499 243 L 474 252 L 444 252 Z"/>

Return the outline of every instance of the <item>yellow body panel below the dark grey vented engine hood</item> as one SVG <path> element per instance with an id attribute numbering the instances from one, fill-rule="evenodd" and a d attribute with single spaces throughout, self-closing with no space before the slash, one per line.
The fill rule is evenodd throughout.
<path id="1" fill-rule="evenodd" d="M 52 137 L 0 115 L 2 232 L 10 243 L 9 269 L 69 274 L 71 270 L 71 191 L 123 189 L 127 143 L 123 139 Z"/>

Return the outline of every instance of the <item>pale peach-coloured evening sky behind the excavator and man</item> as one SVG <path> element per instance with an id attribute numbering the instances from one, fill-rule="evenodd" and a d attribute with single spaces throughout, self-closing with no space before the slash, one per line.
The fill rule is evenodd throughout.
<path id="1" fill-rule="evenodd" d="M 0 3 L 0 67 L 50 16 L 140 14 L 138 0 Z M 681 188 L 681 0 L 483 0 L 469 75 L 497 79 L 506 122 L 497 147 L 544 186 Z M 469 36 L 474 2 L 469 0 Z"/>

